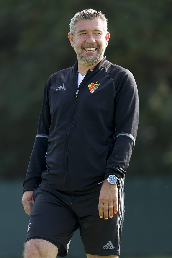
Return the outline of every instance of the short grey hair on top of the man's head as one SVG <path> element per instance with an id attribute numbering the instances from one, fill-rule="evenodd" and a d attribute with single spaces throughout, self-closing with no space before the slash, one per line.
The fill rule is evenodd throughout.
<path id="1" fill-rule="evenodd" d="M 104 23 L 104 30 L 107 32 L 108 24 L 107 24 L 107 18 L 105 17 L 105 14 L 103 14 L 100 11 L 95 11 L 93 9 L 86 9 L 81 12 L 76 12 L 74 17 L 70 21 L 70 33 L 74 35 L 75 33 L 75 24 L 79 20 L 93 20 L 93 19 L 102 19 Z"/>

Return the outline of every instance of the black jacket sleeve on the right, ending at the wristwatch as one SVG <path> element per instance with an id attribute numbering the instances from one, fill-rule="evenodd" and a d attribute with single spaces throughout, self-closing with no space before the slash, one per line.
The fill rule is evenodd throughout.
<path id="1" fill-rule="evenodd" d="M 131 72 L 125 70 L 121 79 L 115 81 L 115 143 L 107 160 L 105 178 L 111 174 L 124 177 L 134 149 L 139 122 L 138 90 Z"/>

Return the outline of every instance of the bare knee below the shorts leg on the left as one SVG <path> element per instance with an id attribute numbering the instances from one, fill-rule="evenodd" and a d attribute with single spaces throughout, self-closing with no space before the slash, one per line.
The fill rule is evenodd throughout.
<path id="1" fill-rule="evenodd" d="M 31 239 L 25 243 L 23 258 L 56 258 L 58 248 L 43 239 Z"/>

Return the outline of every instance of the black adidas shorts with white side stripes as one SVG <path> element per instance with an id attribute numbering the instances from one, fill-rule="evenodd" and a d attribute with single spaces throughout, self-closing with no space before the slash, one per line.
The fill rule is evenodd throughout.
<path id="1" fill-rule="evenodd" d="M 93 255 L 120 255 L 124 218 L 124 182 L 120 181 L 119 208 L 113 218 L 100 218 L 100 191 L 72 195 L 41 184 L 33 193 L 35 200 L 27 230 L 27 240 L 44 239 L 58 247 L 58 256 L 66 256 L 70 240 L 79 228 L 84 251 Z"/>

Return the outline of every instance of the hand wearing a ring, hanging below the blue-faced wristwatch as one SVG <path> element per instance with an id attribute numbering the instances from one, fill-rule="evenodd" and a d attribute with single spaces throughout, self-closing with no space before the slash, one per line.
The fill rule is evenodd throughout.
<path id="1" fill-rule="evenodd" d="M 113 207 L 109 207 L 113 206 Z M 100 218 L 105 220 L 113 217 L 113 212 L 118 212 L 118 186 L 116 184 L 109 184 L 105 179 L 100 190 L 98 210 Z"/>

